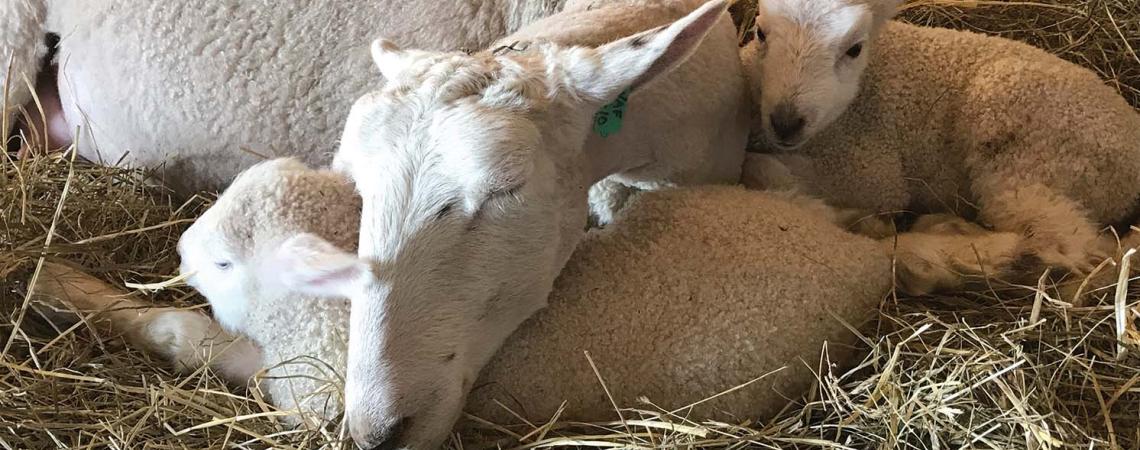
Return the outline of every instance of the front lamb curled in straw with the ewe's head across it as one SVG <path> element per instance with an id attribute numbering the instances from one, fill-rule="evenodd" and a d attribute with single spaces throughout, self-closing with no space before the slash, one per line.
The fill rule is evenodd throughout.
<path id="1" fill-rule="evenodd" d="M 258 265 L 293 232 L 352 248 L 359 205 L 347 179 L 296 159 L 238 175 L 179 244 L 212 318 L 148 304 L 59 264 L 46 267 L 34 292 L 184 373 L 209 363 L 235 385 L 252 377 L 274 404 L 295 410 L 286 416 L 294 424 L 320 426 L 343 404 L 349 303 L 280 291 Z M 856 339 L 844 322 L 870 318 L 890 286 L 877 244 L 824 212 L 741 187 L 635 196 L 584 239 L 549 306 L 506 341 L 465 409 L 518 420 L 497 401 L 540 422 L 567 401 L 562 419 L 613 418 L 589 352 L 622 406 L 644 395 L 681 408 L 779 370 L 685 410 L 734 420 L 775 414 L 807 388 L 824 342 L 831 363 L 852 362 Z"/>

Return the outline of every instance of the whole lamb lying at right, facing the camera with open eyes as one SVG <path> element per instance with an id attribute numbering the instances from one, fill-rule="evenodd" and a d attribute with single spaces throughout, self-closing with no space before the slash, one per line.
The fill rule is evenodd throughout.
<path id="1" fill-rule="evenodd" d="M 1108 251 L 1098 229 L 1129 224 L 1140 198 L 1140 114 L 1091 71 L 1043 50 L 891 22 L 898 3 L 760 2 L 742 58 L 754 134 L 771 153 L 749 155 L 746 182 L 870 213 L 974 219 L 997 235 L 944 235 L 943 249 L 907 244 L 936 255 L 1000 242 L 960 268 L 967 275 L 1088 272 Z M 959 286 L 952 272 L 928 273 L 917 293 Z"/>

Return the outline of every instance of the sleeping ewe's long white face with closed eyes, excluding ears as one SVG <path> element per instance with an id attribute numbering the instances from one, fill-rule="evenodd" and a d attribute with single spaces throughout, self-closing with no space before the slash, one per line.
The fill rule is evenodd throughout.
<path id="1" fill-rule="evenodd" d="M 416 64 L 429 75 L 356 103 L 336 165 L 364 193 L 360 256 L 375 268 L 350 294 L 373 306 L 355 304 L 350 328 L 374 327 L 367 350 L 350 347 L 350 429 L 432 448 L 503 332 L 542 306 L 576 239 L 565 229 L 585 224 L 585 193 L 567 170 L 581 154 L 549 123 L 585 129 L 588 117 L 529 98 L 549 91 L 542 79 L 496 79 L 518 68 L 505 58 Z"/>

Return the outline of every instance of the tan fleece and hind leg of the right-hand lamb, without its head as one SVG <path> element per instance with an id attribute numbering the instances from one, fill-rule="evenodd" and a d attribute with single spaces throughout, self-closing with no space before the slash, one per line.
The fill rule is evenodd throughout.
<path id="1" fill-rule="evenodd" d="M 746 185 L 866 212 L 976 219 L 1005 234 L 978 235 L 1002 242 L 980 262 L 999 271 L 1040 261 L 1088 272 L 1110 252 L 1098 229 L 1130 224 L 1140 201 L 1140 114 L 1094 73 L 1008 39 L 898 22 L 871 51 L 860 95 L 836 123 L 773 154 L 787 171 L 758 170 L 765 157 L 749 156 Z M 755 44 L 742 50 L 746 73 L 760 64 L 755 56 Z M 763 85 L 750 84 L 759 98 Z M 964 254 L 971 239 L 945 251 Z M 934 249 L 912 247 L 903 253 Z M 937 267 L 961 261 L 938 260 L 903 264 L 943 272 L 911 280 L 921 286 L 913 293 L 954 285 Z M 971 260 L 960 269 L 985 270 Z"/>

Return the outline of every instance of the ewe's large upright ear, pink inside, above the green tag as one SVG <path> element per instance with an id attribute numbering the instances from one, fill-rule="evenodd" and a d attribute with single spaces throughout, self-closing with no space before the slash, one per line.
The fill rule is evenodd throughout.
<path id="1" fill-rule="evenodd" d="M 638 89 L 689 59 L 727 8 L 726 0 L 712 0 L 673 24 L 598 47 L 593 58 L 573 55 L 571 83 L 597 101 Z"/>

